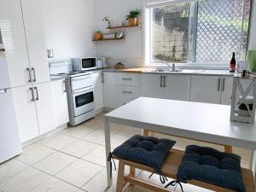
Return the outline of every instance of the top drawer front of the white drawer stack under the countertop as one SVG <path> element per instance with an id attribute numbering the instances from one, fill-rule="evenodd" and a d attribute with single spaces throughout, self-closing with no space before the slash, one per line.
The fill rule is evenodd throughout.
<path id="1" fill-rule="evenodd" d="M 116 84 L 127 86 L 141 86 L 140 74 L 137 73 L 117 73 Z"/>

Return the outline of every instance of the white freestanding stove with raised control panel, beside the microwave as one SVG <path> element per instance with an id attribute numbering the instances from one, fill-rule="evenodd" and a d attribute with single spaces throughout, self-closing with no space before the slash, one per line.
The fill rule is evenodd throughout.
<path id="1" fill-rule="evenodd" d="M 69 125 L 75 126 L 95 117 L 91 72 L 73 72 L 71 59 L 49 60 L 51 76 L 66 78 Z"/>

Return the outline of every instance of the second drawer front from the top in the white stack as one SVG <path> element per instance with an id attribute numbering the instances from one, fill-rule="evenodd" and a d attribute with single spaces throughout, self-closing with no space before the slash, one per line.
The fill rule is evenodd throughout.
<path id="1" fill-rule="evenodd" d="M 116 85 L 116 93 L 121 98 L 135 99 L 141 96 L 141 89 L 135 86 Z"/>

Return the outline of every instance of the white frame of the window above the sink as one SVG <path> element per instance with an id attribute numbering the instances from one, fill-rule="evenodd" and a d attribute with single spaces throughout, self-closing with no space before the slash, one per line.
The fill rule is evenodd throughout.
<path id="1" fill-rule="evenodd" d="M 218 68 L 218 69 L 227 69 L 229 68 L 229 64 L 226 62 L 222 61 L 195 61 L 196 60 L 196 32 L 197 32 L 197 15 L 198 15 L 198 2 L 204 1 L 204 0 L 142 0 L 142 6 L 143 6 L 143 52 L 144 52 L 144 63 L 145 66 L 148 67 L 163 67 L 166 66 L 164 62 L 151 62 L 151 57 L 152 57 L 152 36 L 151 36 L 151 27 L 152 25 L 150 24 L 152 21 L 152 15 L 151 15 L 151 9 L 157 8 L 157 7 L 162 7 L 162 6 L 168 6 L 168 5 L 175 5 L 178 3 L 192 3 L 193 6 L 196 7 L 194 8 L 194 17 L 191 20 L 191 17 L 189 16 L 189 38 L 191 37 L 190 35 L 190 30 L 191 30 L 191 23 L 194 22 L 195 30 L 192 32 L 193 33 L 193 44 L 190 43 L 189 39 L 189 49 L 193 49 L 193 51 L 188 51 L 188 61 L 184 63 L 180 62 L 173 62 L 174 64 L 177 64 L 179 67 L 200 67 L 200 68 Z M 253 35 L 252 35 L 252 28 L 255 28 L 255 25 L 253 24 L 253 17 L 255 16 L 256 20 L 256 5 L 254 4 L 254 0 L 250 0 L 251 5 L 250 5 L 250 18 L 249 18 L 249 26 L 248 26 L 248 34 L 247 34 L 247 49 L 251 47 L 251 44 L 253 41 Z M 151 4 L 154 3 L 154 6 Z M 148 6 L 148 4 L 150 4 Z M 190 12 L 191 12 L 191 7 L 190 7 Z M 149 18 L 149 19 L 148 19 Z M 149 46 L 148 46 L 149 45 Z M 246 49 L 246 51 L 247 51 Z"/>

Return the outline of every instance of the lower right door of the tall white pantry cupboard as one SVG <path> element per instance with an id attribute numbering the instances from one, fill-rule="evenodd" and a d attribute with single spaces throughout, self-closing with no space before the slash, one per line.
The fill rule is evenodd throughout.
<path id="1" fill-rule="evenodd" d="M 55 129 L 55 111 L 50 82 L 33 86 L 40 135 Z"/>

